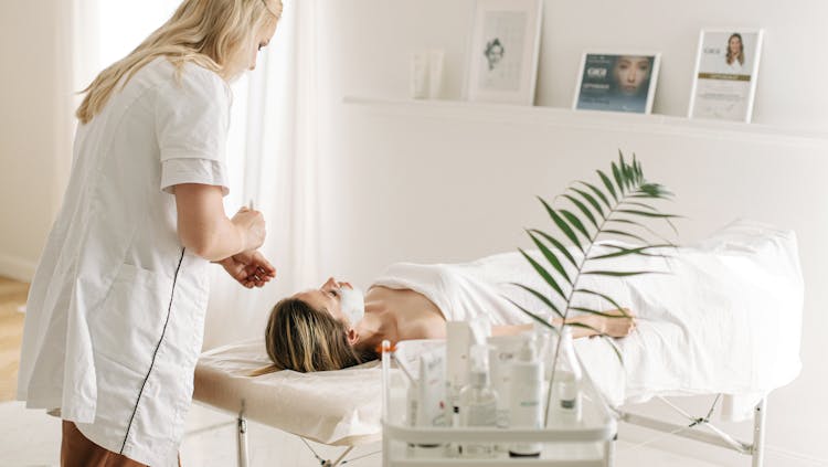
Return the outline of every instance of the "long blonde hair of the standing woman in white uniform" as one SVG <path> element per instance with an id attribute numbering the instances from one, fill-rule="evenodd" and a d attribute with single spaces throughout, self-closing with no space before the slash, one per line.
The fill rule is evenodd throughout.
<path id="1" fill-rule="evenodd" d="M 161 28 L 126 57 L 100 72 L 81 94 L 86 94 L 75 115 L 89 123 L 109 100 L 118 83 L 125 86 L 144 65 L 166 56 L 178 68 L 194 63 L 230 79 L 229 66 L 254 31 L 282 15 L 282 0 L 184 0 Z"/>

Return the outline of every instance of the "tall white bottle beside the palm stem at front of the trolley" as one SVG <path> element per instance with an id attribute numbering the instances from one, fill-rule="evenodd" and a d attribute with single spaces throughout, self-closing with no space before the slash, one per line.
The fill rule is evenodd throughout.
<path id="1" fill-rule="evenodd" d="M 543 425 L 543 362 L 538 360 L 532 336 L 524 337 L 518 360 L 511 367 L 509 426 L 540 429 Z M 541 443 L 514 443 L 509 446 L 509 457 L 539 457 L 542 448 Z"/>

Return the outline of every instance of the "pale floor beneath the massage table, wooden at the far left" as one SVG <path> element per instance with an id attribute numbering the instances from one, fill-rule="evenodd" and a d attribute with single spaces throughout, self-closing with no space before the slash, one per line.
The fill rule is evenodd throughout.
<path id="1" fill-rule="evenodd" d="M 20 340 L 28 285 L 0 277 L 0 466 L 57 466 L 61 444 L 60 420 L 42 411 L 25 410 L 14 395 Z M 6 401 L 6 402 L 4 402 Z M 250 466 L 318 467 L 336 459 L 342 448 L 309 444 L 293 435 L 251 423 Z M 623 437 L 622 437 L 623 439 Z M 379 443 L 354 448 L 346 457 L 353 467 L 379 467 Z M 232 467 L 236 465 L 235 418 L 210 407 L 194 405 L 181 446 L 184 466 Z M 616 466 L 713 467 L 713 464 L 682 457 L 649 446 L 618 442 Z"/>

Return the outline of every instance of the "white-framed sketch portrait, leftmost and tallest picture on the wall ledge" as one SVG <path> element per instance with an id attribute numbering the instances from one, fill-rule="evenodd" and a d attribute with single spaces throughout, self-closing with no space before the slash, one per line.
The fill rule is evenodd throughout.
<path id="1" fill-rule="evenodd" d="M 469 43 L 469 100 L 534 103 L 541 0 L 477 0 Z"/>

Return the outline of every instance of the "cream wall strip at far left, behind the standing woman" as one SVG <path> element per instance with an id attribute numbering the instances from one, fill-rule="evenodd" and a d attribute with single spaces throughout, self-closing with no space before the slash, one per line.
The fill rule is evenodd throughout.
<path id="1" fill-rule="evenodd" d="M 21 279 L 56 212 L 57 7 L 0 3 L 0 275 Z"/>

